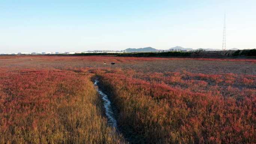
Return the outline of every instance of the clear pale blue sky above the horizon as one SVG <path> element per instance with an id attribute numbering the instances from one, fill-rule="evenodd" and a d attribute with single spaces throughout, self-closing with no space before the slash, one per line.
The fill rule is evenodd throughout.
<path id="1" fill-rule="evenodd" d="M 256 0 L 0 0 L 0 53 L 256 48 Z"/>

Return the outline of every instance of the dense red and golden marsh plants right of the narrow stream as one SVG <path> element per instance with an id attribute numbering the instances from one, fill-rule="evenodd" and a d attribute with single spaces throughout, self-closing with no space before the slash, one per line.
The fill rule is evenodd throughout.
<path id="1" fill-rule="evenodd" d="M 94 72 L 112 95 L 127 137 L 152 144 L 256 143 L 256 90 L 238 81 L 253 76 Z"/>

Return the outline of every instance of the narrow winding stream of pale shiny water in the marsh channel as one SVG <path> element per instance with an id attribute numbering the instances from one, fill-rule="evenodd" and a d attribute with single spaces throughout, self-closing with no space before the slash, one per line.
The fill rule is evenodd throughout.
<path id="1" fill-rule="evenodd" d="M 103 105 L 105 108 L 105 114 L 107 116 L 107 123 L 110 126 L 113 126 L 114 128 L 116 128 L 116 119 L 115 119 L 115 114 L 113 113 L 113 109 L 111 107 L 111 102 L 109 100 L 109 97 L 104 94 L 99 88 L 98 88 L 98 80 L 94 81 L 94 86 L 96 88 L 96 90 L 98 91 L 98 93 L 101 95 L 101 98 L 103 100 Z"/>

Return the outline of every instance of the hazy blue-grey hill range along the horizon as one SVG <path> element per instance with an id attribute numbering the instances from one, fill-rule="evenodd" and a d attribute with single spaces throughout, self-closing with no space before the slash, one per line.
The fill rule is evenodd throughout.
<path id="1" fill-rule="evenodd" d="M 196 51 L 196 50 L 205 50 L 205 51 L 218 51 L 218 50 L 221 50 L 221 49 L 202 49 L 202 48 L 199 48 L 199 49 L 192 49 L 192 48 L 183 48 L 181 46 L 175 46 L 173 48 L 170 48 L 168 50 L 160 50 L 160 49 L 155 49 L 155 48 L 152 48 L 152 47 L 147 47 L 147 48 L 128 48 L 128 49 L 125 49 L 125 50 L 122 50 L 123 52 L 162 52 L 162 51 L 181 51 L 181 50 L 189 50 L 189 51 Z M 233 49 L 228 49 L 228 50 L 238 50 L 237 48 L 233 48 Z"/>

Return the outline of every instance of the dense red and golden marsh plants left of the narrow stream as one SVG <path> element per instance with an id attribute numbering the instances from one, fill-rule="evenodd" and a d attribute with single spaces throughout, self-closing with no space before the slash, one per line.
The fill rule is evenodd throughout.
<path id="1" fill-rule="evenodd" d="M 0 144 L 120 144 L 86 71 L 0 71 Z"/>

